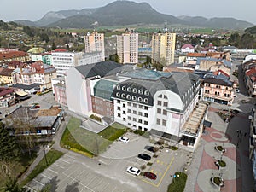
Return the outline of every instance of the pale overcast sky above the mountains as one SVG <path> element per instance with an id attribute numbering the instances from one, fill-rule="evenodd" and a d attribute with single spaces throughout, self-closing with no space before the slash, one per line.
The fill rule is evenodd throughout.
<path id="1" fill-rule="evenodd" d="M 39 20 L 49 11 L 98 8 L 114 0 L 0 0 L 0 20 Z M 233 17 L 256 24 L 256 0 L 134 0 L 174 16 Z"/>

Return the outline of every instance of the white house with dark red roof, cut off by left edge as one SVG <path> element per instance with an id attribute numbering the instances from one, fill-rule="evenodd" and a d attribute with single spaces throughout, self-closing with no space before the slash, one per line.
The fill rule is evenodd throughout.
<path id="1" fill-rule="evenodd" d="M 0 108 L 15 105 L 15 91 L 9 87 L 0 87 Z"/>

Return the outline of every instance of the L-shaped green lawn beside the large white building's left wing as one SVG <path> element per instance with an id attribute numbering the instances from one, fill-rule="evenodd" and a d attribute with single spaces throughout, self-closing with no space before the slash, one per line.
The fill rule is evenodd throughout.
<path id="1" fill-rule="evenodd" d="M 80 128 L 81 121 L 71 118 L 61 138 L 61 147 L 92 157 L 101 154 L 125 133 L 125 127 L 114 123 L 99 134 Z"/>

